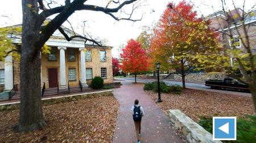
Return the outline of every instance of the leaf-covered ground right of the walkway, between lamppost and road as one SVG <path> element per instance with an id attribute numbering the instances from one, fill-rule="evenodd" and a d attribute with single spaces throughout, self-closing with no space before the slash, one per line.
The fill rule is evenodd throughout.
<path id="1" fill-rule="evenodd" d="M 157 93 L 147 93 L 154 101 L 158 98 Z M 253 99 L 246 96 L 184 89 L 181 95 L 162 93 L 161 98 L 163 102 L 158 103 L 158 106 L 164 112 L 179 109 L 196 122 L 199 122 L 200 116 L 245 117 L 247 114 L 255 114 Z"/>

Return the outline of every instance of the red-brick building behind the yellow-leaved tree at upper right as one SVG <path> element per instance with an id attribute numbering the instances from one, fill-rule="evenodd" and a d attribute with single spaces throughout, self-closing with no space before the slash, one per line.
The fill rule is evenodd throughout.
<path id="1" fill-rule="evenodd" d="M 210 27 L 213 28 L 215 31 L 220 32 L 220 44 L 224 45 L 224 48 L 226 49 L 231 49 L 231 45 L 236 44 L 236 47 L 238 49 L 242 49 L 243 51 L 246 50 L 245 47 L 243 47 L 241 38 L 238 35 L 239 32 L 242 39 L 245 38 L 245 34 L 240 23 L 241 15 L 241 8 L 236 8 L 235 10 L 228 12 L 228 19 L 226 18 L 227 16 L 225 16 L 223 11 L 214 12 L 213 14 L 210 14 L 206 17 L 206 19 L 209 19 L 211 21 Z M 245 25 L 247 27 L 247 33 L 250 39 L 251 51 L 253 53 L 256 53 L 256 11 L 252 11 L 250 12 L 250 14 L 246 15 L 247 16 L 245 19 Z M 236 27 L 238 29 L 238 32 Z M 231 40 L 230 37 L 227 35 L 229 34 L 228 29 L 232 31 L 233 40 Z M 235 59 L 233 57 L 230 57 L 231 66 L 233 62 L 235 62 Z"/>

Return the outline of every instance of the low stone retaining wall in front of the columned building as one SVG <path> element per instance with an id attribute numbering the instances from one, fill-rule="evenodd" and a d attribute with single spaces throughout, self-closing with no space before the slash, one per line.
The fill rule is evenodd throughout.
<path id="1" fill-rule="evenodd" d="M 113 96 L 113 90 L 105 90 L 100 92 L 90 92 L 90 93 L 80 93 L 80 94 L 73 94 L 68 96 L 57 96 L 57 97 L 50 97 L 50 98 L 42 98 L 43 105 L 51 105 L 56 103 L 63 103 L 74 101 L 76 102 L 78 99 L 84 98 L 92 98 L 92 97 L 101 97 L 101 96 Z M 19 109 L 20 102 L 11 102 L 11 103 L 0 103 L 0 111 L 3 110 L 15 110 Z"/>

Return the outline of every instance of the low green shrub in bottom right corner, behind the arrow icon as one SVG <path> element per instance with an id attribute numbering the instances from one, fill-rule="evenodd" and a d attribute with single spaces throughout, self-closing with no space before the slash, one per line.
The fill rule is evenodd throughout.
<path id="1" fill-rule="evenodd" d="M 200 118 L 201 125 L 209 133 L 212 133 L 212 118 Z M 237 119 L 237 141 L 222 141 L 222 142 L 251 142 L 256 136 L 256 115 L 249 115 L 246 119 Z"/>

